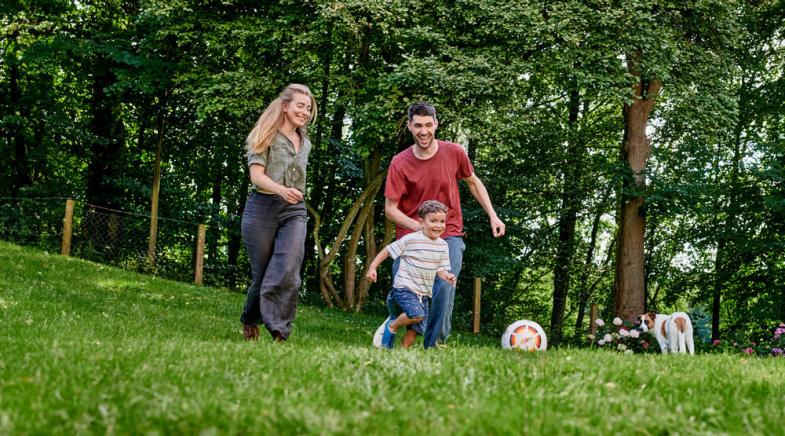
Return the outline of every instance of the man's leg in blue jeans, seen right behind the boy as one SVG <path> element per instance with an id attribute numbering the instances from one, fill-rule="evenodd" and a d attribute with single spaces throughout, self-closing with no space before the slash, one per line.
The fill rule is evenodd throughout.
<path id="1" fill-rule="evenodd" d="M 444 239 L 450 249 L 450 270 L 455 277 L 461 273 L 463 250 L 466 245 L 460 236 L 449 236 Z M 434 347 L 447 340 L 451 330 L 452 308 L 455 304 L 455 287 L 449 282 L 436 277 L 433 285 L 433 299 L 428 314 L 423 347 Z"/>

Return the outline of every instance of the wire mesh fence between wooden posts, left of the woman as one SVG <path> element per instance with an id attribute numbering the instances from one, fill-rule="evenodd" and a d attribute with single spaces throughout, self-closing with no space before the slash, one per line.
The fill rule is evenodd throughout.
<path id="1" fill-rule="evenodd" d="M 66 198 L 0 197 L 0 239 L 60 252 Z M 71 256 L 173 280 L 194 280 L 200 224 L 206 224 L 203 283 L 241 291 L 249 280 L 239 218 L 211 223 L 158 218 L 149 251 L 150 215 L 75 202 Z"/>

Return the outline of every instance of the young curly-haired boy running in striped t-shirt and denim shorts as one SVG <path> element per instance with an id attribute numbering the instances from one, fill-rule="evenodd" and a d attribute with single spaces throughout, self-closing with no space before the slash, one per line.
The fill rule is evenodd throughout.
<path id="1" fill-rule="evenodd" d="M 400 258 L 398 272 L 393 278 L 393 287 L 387 295 L 390 317 L 384 323 L 381 346 L 393 348 L 398 329 L 406 327 L 406 336 L 401 345 L 408 348 L 414 344 L 417 334 L 425 332 L 428 319 L 428 300 L 433 282 L 438 275 L 455 286 L 455 275 L 450 272 L 450 256 L 447 243 L 439 237 L 444 233 L 447 222 L 447 206 L 427 200 L 417 211 L 420 230 L 410 233 L 388 245 L 373 259 L 365 275 L 376 281 L 376 268 L 388 256 Z"/>

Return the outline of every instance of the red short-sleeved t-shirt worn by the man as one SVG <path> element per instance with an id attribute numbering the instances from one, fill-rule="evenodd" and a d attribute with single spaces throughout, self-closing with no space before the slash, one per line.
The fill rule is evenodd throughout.
<path id="1" fill-rule="evenodd" d="M 412 147 L 398 153 L 390 162 L 384 196 L 398 201 L 398 209 L 406 216 L 417 219 L 417 209 L 425 200 L 444 203 L 447 212 L 447 227 L 442 238 L 463 234 L 461 198 L 458 180 L 474 174 L 474 168 L 463 147 L 446 141 L 438 141 L 439 150 L 430 159 L 421 160 L 414 156 Z M 395 236 L 412 233 L 396 226 Z"/>

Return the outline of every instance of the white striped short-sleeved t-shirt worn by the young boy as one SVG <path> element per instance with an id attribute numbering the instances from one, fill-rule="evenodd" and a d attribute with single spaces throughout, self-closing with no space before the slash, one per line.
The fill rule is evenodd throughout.
<path id="1" fill-rule="evenodd" d="M 401 258 L 393 287 L 406 288 L 421 297 L 431 296 L 437 271 L 450 270 L 447 243 L 425 236 L 422 230 L 393 241 L 387 250 L 393 259 Z"/>

